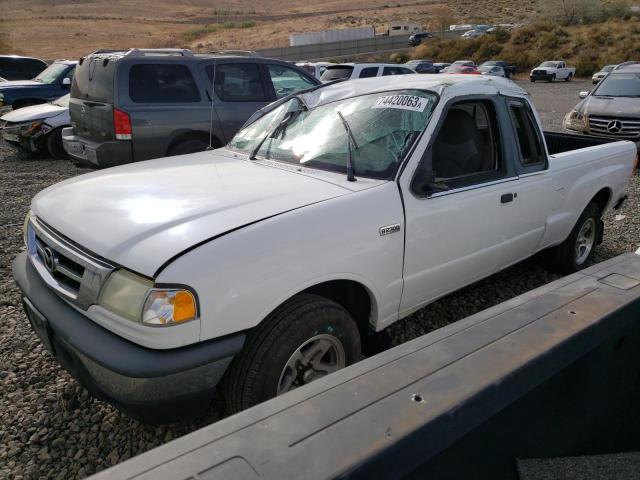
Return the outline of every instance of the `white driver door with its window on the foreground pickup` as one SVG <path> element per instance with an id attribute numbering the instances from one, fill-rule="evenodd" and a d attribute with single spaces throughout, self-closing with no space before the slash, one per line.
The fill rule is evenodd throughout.
<path id="1" fill-rule="evenodd" d="M 404 195 L 401 316 L 535 249 L 540 232 L 531 232 L 522 218 L 519 178 L 506 161 L 502 131 L 511 126 L 504 108 L 499 98 L 481 97 L 454 103 L 441 116 L 411 193 Z M 430 178 L 430 171 L 438 188 L 426 191 L 422 177 Z"/>

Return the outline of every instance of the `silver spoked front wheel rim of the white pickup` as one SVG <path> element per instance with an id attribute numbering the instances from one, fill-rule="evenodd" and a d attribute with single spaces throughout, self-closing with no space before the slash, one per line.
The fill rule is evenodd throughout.
<path id="1" fill-rule="evenodd" d="M 311 383 L 346 366 L 346 354 L 340 340 L 321 334 L 300 345 L 282 369 L 277 395 Z"/>

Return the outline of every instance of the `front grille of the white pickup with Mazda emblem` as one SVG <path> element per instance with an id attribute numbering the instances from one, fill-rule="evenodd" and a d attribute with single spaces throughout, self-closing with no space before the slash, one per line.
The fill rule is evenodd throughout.
<path id="1" fill-rule="evenodd" d="M 97 303 L 100 289 L 114 268 L 35 217 L 29 221 L 27 248 L 45 283 L 82 309 Z"/>

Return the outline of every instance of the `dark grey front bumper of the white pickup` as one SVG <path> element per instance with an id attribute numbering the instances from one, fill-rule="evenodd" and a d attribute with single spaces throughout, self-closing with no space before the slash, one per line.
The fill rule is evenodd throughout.
<path id="1" fill-rule="evenodd" d="M 182 348 L 145 348 L 97 325 L 53 293 L 25 252 L 13 262 L 25 312 L 43 345 L 89 392 L 149 423 L 203 414 L 243 333 Z"/>

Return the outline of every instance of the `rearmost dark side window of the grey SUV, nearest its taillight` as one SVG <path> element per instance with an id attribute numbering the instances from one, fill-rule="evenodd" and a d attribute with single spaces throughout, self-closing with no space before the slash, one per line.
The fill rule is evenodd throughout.
<path id="1" fill-rule="evenodd" d="M 199 102 L 200 92 L 184 65 L 141 63 L 129 72 L 129 97 L 136 103 Z"/>

